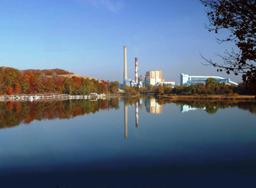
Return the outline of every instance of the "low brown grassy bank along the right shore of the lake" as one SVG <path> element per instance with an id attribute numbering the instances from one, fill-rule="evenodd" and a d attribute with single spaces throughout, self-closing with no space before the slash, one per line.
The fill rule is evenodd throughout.
<path id="1" fill-rule="evenodd" d="M 251 100 L 255 101 L 255 95 L 239 95 L 239 96 L 228 96 L 228 95 L 156 95 L 159 98 L 167 99 L 190 99 L 190 100 Z"/>

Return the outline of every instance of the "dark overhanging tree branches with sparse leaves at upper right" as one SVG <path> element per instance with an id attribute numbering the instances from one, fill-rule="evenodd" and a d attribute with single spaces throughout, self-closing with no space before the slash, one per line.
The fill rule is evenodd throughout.
<path id="1" fill-rule="evenodd" d="M 242 73 L 245 86 L 256 93 L 256 1 L 255 0 L 200 0 L 207 7 L 209 32 L 218 33 L 220 29 L 228 29 L 230 35 L 225 39 L 217 39 L 219 43 L 234 42 L 239 52 L 226 50 L 222 57 L 223 64 L 211 59 L 204 65 L 218 67 L 217 71 L 230 71 L 235 75 Z"/>

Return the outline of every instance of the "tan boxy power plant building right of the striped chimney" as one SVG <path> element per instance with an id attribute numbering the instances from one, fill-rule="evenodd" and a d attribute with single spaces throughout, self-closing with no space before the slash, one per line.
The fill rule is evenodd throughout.
<path id="1" fill-rule="evenodd" d="M 162 78 L 162 71 L 148 71 L 146 72 L 146 85 L 157 85 L 161 84 L 174 84 L 175 82 L 165 82 L 165 79 Z"/>

